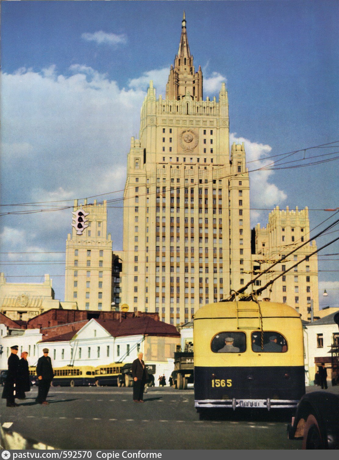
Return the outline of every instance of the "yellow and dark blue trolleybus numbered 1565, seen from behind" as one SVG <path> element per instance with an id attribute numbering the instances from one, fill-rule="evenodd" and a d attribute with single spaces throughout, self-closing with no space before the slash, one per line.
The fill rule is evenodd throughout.
<path id="1" fill-rule="evenodd" d="M 294 408 L 305 394 L 303 328 L 274 302 L 205 305 L 194 316 L 194 399 L 211 408 Z"/>

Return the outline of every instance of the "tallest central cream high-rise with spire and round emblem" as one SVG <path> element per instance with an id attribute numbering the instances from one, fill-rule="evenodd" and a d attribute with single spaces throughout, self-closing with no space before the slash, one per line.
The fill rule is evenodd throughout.
<path id="1" fill-rule="evenodd" d="M 185 14 L 166 94 L 153 82 L 131 138 L 124 190 L 122 303 L 172 324 L 249 281 L 249 175 L 229 151 L 225 83 L 203 98 Z"/>

